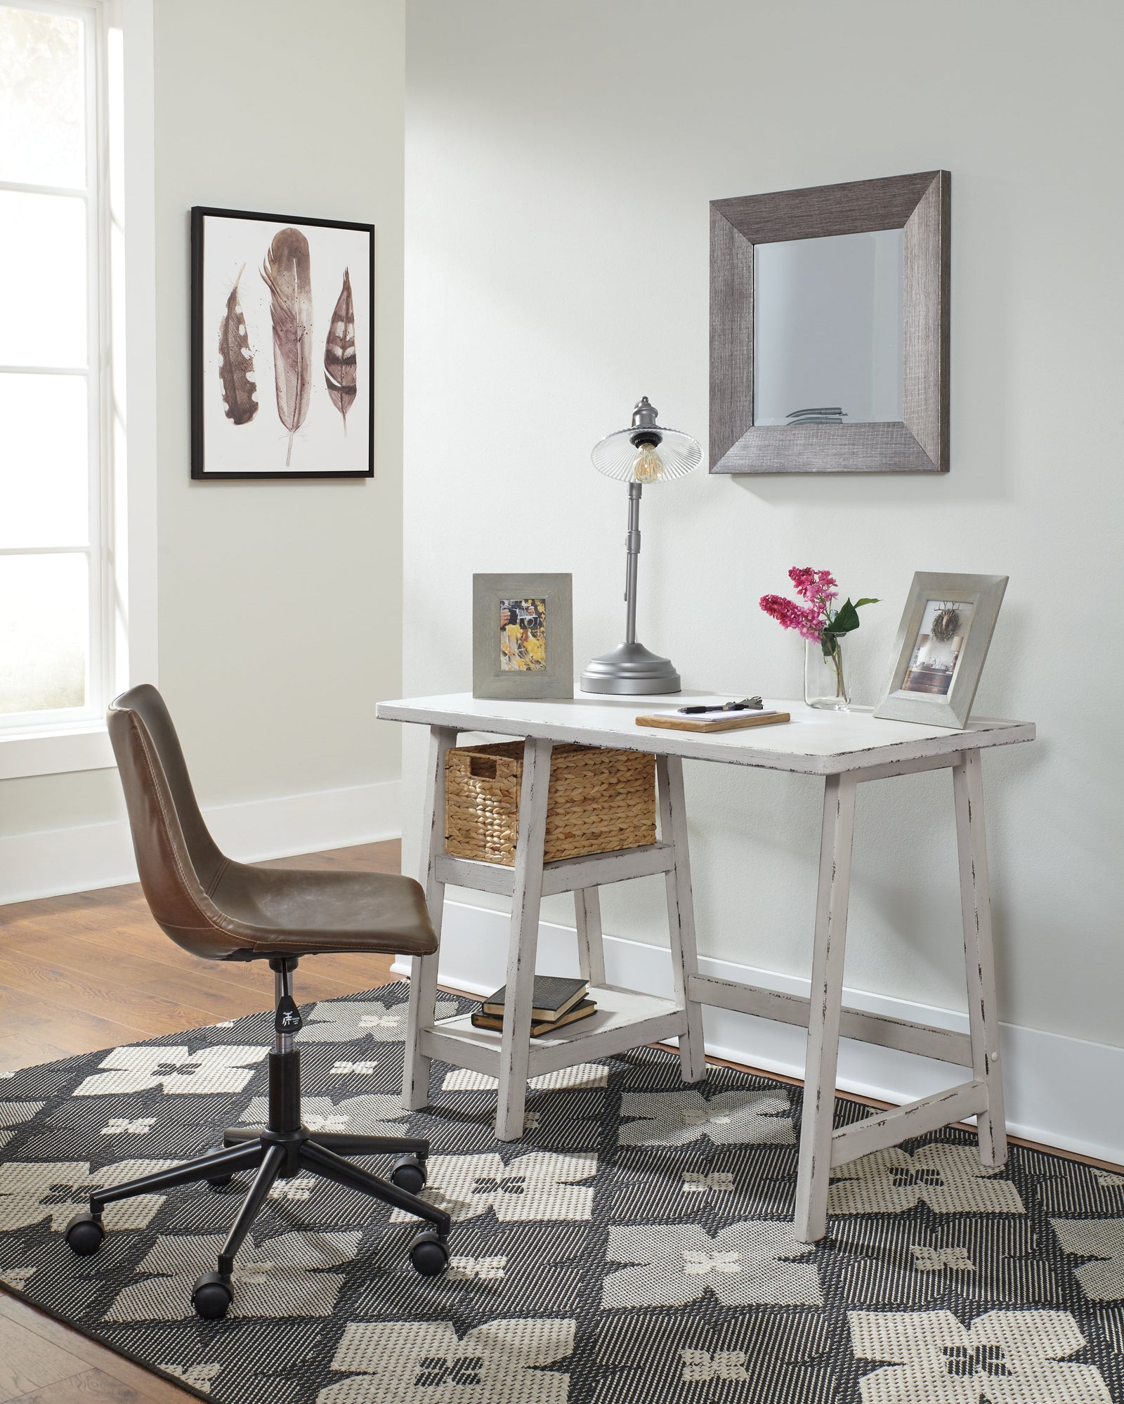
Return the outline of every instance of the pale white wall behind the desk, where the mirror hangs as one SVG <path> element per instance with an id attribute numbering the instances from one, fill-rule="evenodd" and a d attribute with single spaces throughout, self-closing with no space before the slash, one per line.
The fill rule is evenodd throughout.
<path id="1" fill-rule="evenodd" d="M 640 635 L 688 685 L 793 696 L 803 646 L 756 600 L 827 566 L 884 600 L 873 702 L 914 570 L 1009 574 L 978 712 L 1041 739 L 985 761 L 1002 1016 L 1116 1046 L 1123 42 L 1097 0 L 407 15 L 407 695 L 470 685 L 474 570 L 571 570 L 578 665 L 619 640 L 624 493 L 589 448 L 643 393 L 706 438 L 709 199 L 946 167 L 951 472 L 653 490 Z M 692 765 L 688 800 L 703 951 L 805 974 L 815 783 Z M 654 882 L 605 913 L 660 939 Z M 849 986 L 963 1008 L 947 775 L 863 790 L 850 931 Z"/>

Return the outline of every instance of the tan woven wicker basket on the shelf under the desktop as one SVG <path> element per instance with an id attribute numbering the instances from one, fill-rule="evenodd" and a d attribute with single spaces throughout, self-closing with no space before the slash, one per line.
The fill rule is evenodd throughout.
<path id="1" fill-rule="evenodd" d="M 445 760 L 445 849 L 515 863 L 523 743 L 453 747 Z M 655 757 L 599 746 L 550 753 L 544 862 L 655 842 Z"/>

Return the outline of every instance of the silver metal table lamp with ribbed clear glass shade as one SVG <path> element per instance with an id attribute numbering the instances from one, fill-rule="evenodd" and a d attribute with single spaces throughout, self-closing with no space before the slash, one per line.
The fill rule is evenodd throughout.
<path id="1" fill-rule="evenodd" d="M 648 695 L 678 692 L 679 674 L 669 658 L 651 653 L 636 637 L 636 574 L 640 564 L 640 494 L 645 483 L 669 483 L 699 466 L 703 451 L 679 430 L 655 423 L 657 410 L 647 395 L 633 410 L 627 430 L 609 434 L 594 446 L 594 468 L 629 484 L 627 573 L 624 577 L 624 643 L 594 658 L 581 675 L 582 692 Z"/>

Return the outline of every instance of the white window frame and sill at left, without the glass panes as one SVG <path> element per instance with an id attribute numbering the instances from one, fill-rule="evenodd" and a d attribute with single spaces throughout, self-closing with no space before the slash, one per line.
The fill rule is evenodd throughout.
<path id="1" fill-rule="evenodd" d="M 51 548 L 72 553 L 80 549 L 91 562 L 87 706 L 0 719 L 0 779 L 111 768 L 105 703 L 133 682 L 154 682 L 157 661 L 152 0 L 13 3 L 86 20 L 87 73 L 95 74 L 86 94 L 88 173 L 81 191 L 93 215 L 87 220 L 88 365 L 83 371 L 49 371 L 87 378 L 94 482 L 88 545 Z M 121 73 L 115 72 L 118 65 Z M 123 128 L 123 171 L 115 173 L 114 187 L 123 191 L 126 237 L 123 211 L 111 209 L 111 69 L 114 86 L 123 90 L 123 110 L 115 114 Z M 3 183 L 0 188 L 62 194 L 60 187 Z M 114 295 L 114 278 L 123 282 L 123 299 L 121 284 Z M 31 546 L 4 553 L 45 552 Z"/>

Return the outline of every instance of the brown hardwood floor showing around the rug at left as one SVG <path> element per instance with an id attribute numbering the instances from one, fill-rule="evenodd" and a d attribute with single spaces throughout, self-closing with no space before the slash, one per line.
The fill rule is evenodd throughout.
<path id="1" fill-rule="evenodd" d="M 399 844 L 279 858 L 272 868 L 399 872 Z M 316 956 L 297 1000 L 393 980 L 392 956 Z M 264 963 L 206 962 L 168 941 L 139 883 L 0 907 L 0 1070 L 237 1019 L 274 1002 Z M 150 1375 L 0 1292 L 0 1404 L 182 1404 Z"/>

